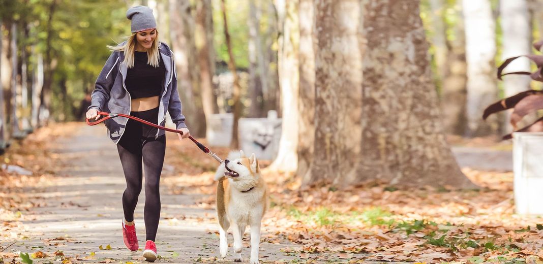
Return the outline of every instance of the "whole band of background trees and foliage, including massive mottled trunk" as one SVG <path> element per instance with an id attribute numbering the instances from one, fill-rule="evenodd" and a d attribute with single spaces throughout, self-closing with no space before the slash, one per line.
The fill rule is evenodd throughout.
<path id="1" fill-rule="evenodd" d="M 191 133 L 204 137 L 211 114 L 275 110 L 270 169 L 307 184 L 419 175 L 470 186 L 445 136 L 510 132 L 505 115 L 483 122 L 482 110 L 539 88 L 527 76 L 498 84 L 495 68 L 532 53 L 542 0 L 0 0 L 0 149 L 50 121 L 83 120 L 105 46 L 130 34 L 125 11 L 137 4 L 154 9 L 174 51 Z M 519 59 L 508 71 L 530 67 Z"/>

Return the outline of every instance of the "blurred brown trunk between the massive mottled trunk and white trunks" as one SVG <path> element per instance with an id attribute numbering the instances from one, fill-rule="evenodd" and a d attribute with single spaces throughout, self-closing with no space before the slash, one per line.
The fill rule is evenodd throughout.
<path id="1" fill-rule="evenodd" d="M 447 133 L 462 135 L 466 130 L 466 41 L 462 4 L 458 4 L 459 20 L 454 25 L 454 37 L 447 55 L 447 68 L 441 92 L 441 108 Z"/>

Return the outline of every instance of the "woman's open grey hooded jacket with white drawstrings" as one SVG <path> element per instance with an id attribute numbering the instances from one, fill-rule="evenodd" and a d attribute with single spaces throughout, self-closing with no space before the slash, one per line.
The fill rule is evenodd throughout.
<path id="1" fill-rule="evenodd" d="M 120 43 L 123 45 L 126 41 Z M 166 111 L 170 113 L 176 129 L 187 127 L 185 125 L 185 116 L 181 113 L 181 100 L 177 91 L 177 74 L 175 73 L 175 62 L 172 56 L 172 50 L 163 42 L 159 44 L 159 51 L 166 67 L 164 86 L 162 96 L 159 102 L 159 124 L 164 126 L 166 123 Z M 122 63 L 124 60 L 123 51 L 113 51 L 105 62 L 102 72 L 96 79 L 94 91 L 91 93 L 91 105 L 87 108 L 97 108 L 98 111 L 109 113 L 130 114 L 131 99 L 124 80 L 127 78 L 128 67 Z M 124 128 L 127 125 L 128 118 L 115 117 L 104 121 L 108 128 L 109 138 L 118 143 L 123 136 Z M 164 130 L 159 129 L 155 138 L 165 134 Z"/>

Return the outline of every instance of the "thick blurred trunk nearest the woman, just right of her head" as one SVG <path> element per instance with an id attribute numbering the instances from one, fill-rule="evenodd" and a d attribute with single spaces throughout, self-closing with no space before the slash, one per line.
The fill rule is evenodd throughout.
<path id="1" fill-rule="evenodd" d="M 202 99 L 199 93 L 198 75 L 195 63 L 194 34 L 192 27 L 194 23 L 191 15 L 190 0 L 169 0 L 170 23 L 172 47 L 175 57 L 175 65 L 178 73 L 179 96 L 183 102 L 183 114 L 187 119 L 187 125 L 191 134 L 195 137 L 205 137 L 206 123 L 204 112 L 201 111 Z M 193 78 L 196 78 L 194 80 Z"/>

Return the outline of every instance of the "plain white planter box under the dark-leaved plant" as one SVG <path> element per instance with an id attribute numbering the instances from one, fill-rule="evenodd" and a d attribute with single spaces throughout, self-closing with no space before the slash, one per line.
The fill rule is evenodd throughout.
<path id="1" fill-rule="evenodd" d="M 543 132 L 513 133 L 515 213 L 543 215 Z"/>

